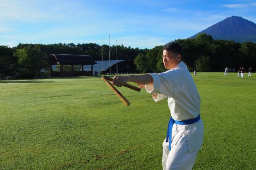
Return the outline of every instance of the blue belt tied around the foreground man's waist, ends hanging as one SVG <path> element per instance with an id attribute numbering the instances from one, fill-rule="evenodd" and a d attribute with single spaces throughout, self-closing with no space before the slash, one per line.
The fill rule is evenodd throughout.
<path id="1" fill-rule="evenodd" d="M 167 135 L 166 135 L 166 142 L 169 141 L 169 136 L 170 136 L 170 139 L 171 139 L 171 142 L 169 142 L 169 151 L 171 150 L 172 130 L 173 130 L 174 123 L 179 124 L 179 125 L 189 125 L 189 124 L 196 123 L 198 120 L 200 120 L 200 114 L 196 118 L 188 119 L 188 120 L 178 121 L 178 120 L 174 120 L 173 118 L 171 118 L 169 120 L 168 129 L 167 129 Z"/>

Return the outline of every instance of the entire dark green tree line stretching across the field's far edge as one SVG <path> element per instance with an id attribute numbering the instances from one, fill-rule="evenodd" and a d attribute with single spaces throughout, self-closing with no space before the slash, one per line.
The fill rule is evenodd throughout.
<path id="1" fill-rule="evenodd" d="M 199 34 L 195 39 L 178 39 L 183 47 L 183 61 L 190 71 L 196 66 L 198 71 L 223 71 L 226 67 L 255 68 L 256 44 L 252 42 L 238 43 L 228 40 L 213 40 L 211 35 Z M 166 69 L 162 63 L 162 47 L 139 49 L 124 45 L 110 46 L 111 59 L 134 59 L 137 71 L 143 73 L 163 72 Z M 91 55 L 95 60 L 109 59 L 109 46 L 88 44 L 21 44 L 15 47 L 0 46 L 0 77 L 23 76 L 31 77 L 49 74 L 48 56 L 54 53 Z M 42 73 L 42 69 L 48 73 Z"/>

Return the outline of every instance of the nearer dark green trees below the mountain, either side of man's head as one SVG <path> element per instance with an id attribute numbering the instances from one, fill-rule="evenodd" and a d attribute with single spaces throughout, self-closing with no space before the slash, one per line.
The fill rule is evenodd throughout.
<path id="1" fill-rule="evenodd" d="M 220 72 L 226 67 L 238 70 L 240 67 L 255 68 L 256 44 L 238 43 L 228 40 L 213 40 L 211 35 L 199 34 L 195 39 L 176 40 L 183 47 L 183 61 L 188 69 L 202 72 Z M 163 46 L 156 46 L 146 54 L 135 58 L 138 71 L 143 73 L 166 71 L 162 62 Z M 146 62 L 145 62 L 146 61 Z"/>

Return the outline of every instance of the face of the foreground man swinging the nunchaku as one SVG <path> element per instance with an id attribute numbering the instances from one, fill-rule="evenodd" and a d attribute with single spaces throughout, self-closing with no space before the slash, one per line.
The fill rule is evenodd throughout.
<path id="1" fill-rule="evenodd" d="M 181 62 L 181 55 L 175 54 L 172 51 L 163 51 L 163 63 L 166 69 L 175 68 Z"/>

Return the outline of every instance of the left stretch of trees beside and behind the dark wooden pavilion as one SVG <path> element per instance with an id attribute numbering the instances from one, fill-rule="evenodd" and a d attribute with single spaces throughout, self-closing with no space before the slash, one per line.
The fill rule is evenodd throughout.
<path id="1" fill-rule="evenodd" d="M 110 46 L 110 57 L 116 59 L 116 49 L 118 59 L 135 59 L 140 54 L 146 54 L 148 49 L 131 48 L 124 45 Z M 95 60 L 109 60 L 109 45 L 89 44 L 21 44 L 15 47 L 0 46 L 0 77 L 18 76 L 19 78 L 42 76 L 50 74 L 48 57 L 50 54 L 77 54 L 90 55 Z M 68 67 L 66 67 L 68 68 Z M 42 69 L 46 72 L 42 72 Z"/>

